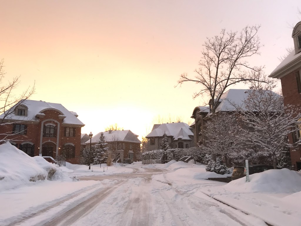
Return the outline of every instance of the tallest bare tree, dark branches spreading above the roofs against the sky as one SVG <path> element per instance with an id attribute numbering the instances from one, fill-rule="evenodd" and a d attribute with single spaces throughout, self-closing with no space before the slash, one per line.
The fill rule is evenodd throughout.
<path id="1" fill-rule="evenodd" d="M 209 96 L 213 114 L 221 95 L 236 83 L 257 81 L 273 86 L 275 81 L 262 76 L 263 67 L 252 67 L 247 61 L 251 56 L 260 54 L 259 28 L 258 25 L 247 26 L 240 33 L 223 29 L 219 36 L 207 38 L 203 44 L 200 67 L 195 70 L 197 75 L 191 78 L 186 73 L 182 74 L 178 85 L 185 82 L 200 84 L 200 90 L 193 97 Z M 256 77 L 253 77 L 253 72 L 256 72 Z"/>

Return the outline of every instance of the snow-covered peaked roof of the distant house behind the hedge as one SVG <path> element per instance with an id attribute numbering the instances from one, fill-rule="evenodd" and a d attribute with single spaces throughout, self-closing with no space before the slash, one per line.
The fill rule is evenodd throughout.
<path id="1" fill-rule="evenodd" d="M 191 140 L 189 136 L 193 136 L 188 124 L 184 122 L 175 122 L 161 124 L 146 137 L 163 137 L 164 132 L 167 136 L 172 136 L 175 140 Z"/>

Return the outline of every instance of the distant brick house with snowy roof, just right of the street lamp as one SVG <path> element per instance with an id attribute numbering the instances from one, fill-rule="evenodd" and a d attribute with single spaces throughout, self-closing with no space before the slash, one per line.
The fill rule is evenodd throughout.
<path id="1" fill-rule="evenodd" d="M 138 160 L 140 153 L 141 141 L 138 139 L 137 134 L 131 130 L 108 130 L 99 132 L 91 139 L 91 144 L 98 143 L 101 133 L 104 133 L 106 143 L 108 143 L 109 150 L 115 150 L 119 153 L 119 162 L 124 162 L 124 159 L 130 159 L 131 162 Z M 85 142 L 86 145 L 90 144 L 90 139 Z"/>

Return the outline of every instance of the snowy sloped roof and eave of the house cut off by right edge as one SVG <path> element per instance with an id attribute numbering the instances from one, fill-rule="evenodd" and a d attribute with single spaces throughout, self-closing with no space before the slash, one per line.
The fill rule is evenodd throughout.
<path id="1" fill-rule="evenodd" d="M 289 55 L 275 68 L 274 71 L 268 76 L 272 78 L 281 78 L 290 72 L 294 71 L 295 67 L 300 67 L 301 52 L 295 54 L 295 50 L 290 52 Z"/>

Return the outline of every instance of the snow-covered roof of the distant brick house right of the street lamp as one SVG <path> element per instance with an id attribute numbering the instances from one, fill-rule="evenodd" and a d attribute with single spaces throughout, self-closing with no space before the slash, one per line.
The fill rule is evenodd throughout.
<path id="1" fill-rule="evenodd" d="M 111 133 L 109 131 L 99 132 L 92 137 L 91 142 L 97 143 L 101 133 L 104 133 L 106 142 L 113 141 L 114 137 L 118 137 L 119 141 L 141 143 L 141 141 L 138 139 L 138 135 L 133 133 L 131 130 L 111 130 Z M 85 143 L 90 143 L 90 140 Z"/>

